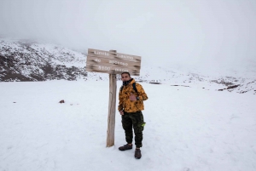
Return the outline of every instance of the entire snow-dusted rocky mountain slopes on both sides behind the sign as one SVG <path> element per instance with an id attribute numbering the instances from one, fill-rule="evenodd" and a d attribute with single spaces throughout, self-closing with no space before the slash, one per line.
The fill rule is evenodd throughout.
<path id="1" fill-rule="evenodd" d="M 0 39 L 0 82 L 108 80 L 108 74 L 86 72 L 85 62 L 86 54 L 54 44 Z M 214 71 L 213 75 L 198 68 L 143 66 L 141 76 L 134 78 L 144 83 L 256 94 L 256 64 L 251 62 L 250 65 L 244 71 L 228 68 L 224 73 Z"/>

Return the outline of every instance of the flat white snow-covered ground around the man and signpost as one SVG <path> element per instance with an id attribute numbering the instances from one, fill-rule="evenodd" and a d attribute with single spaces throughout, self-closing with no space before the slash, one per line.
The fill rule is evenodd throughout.
<path id="1" fill-rule="evenodd" d="M 106 147 L 108 81 L 0 83 L 0 170 L 256 170 L 255 95 L 142 84 L 149 99 L 137 160 L 118 150 L 118 113 Z"/>

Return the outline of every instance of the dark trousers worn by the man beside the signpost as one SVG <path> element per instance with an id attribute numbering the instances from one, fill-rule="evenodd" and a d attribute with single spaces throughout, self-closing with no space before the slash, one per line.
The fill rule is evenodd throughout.
<path id="1" fill-rule="evenodd" d="M 132 143 L 133 133 L 135 134 L 135 145 L 137 148 L 143 146 L 143 129 L 144 129 L 143 112 L 124 112 L 122 115 L 122 126 L 125 129 L 125 140 L 128 144 Z"/>

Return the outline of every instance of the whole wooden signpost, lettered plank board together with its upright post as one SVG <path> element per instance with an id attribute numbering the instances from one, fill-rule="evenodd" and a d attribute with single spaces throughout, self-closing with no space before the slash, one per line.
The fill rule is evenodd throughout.
<path id="1" fill-rule="evenodd" d="M 116 50 L 88 49 L 86 71 L 103 72 L 109 74 L 109 101 L 108 101 L 108 130 L 107 147 L 114 145 L 114 126 L 116 109 L 116 74 L 124 71 L 131 76 L 139 76 L 141 57 L 131 54 L 120 54 Z"/>

